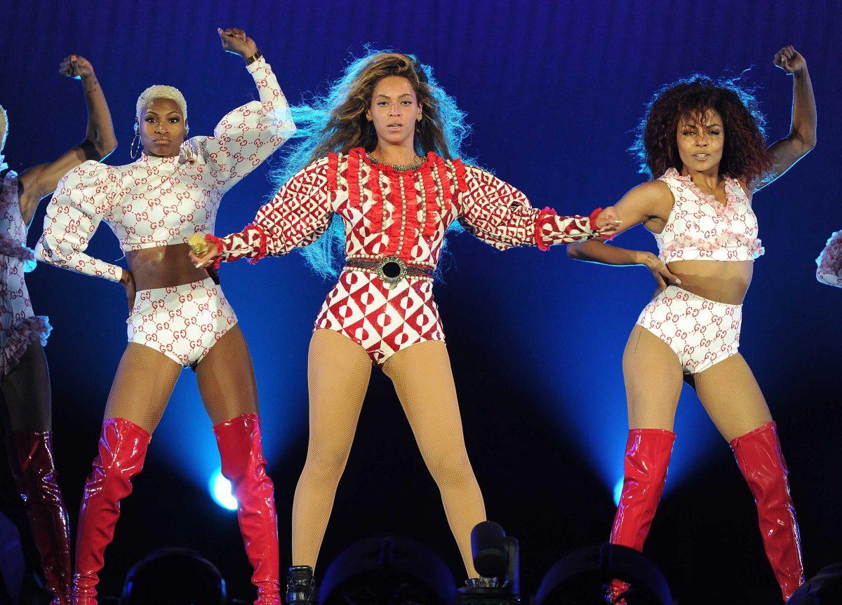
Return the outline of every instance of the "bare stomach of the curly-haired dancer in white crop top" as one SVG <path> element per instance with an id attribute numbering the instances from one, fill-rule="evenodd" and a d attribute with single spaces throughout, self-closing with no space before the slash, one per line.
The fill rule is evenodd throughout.
<path id="1" fill-rule="evenodd" d="M 727 305 L 742 305 L 751 284 L 754 261 L 674 261 L 667 267 L 679 288 Z"/>

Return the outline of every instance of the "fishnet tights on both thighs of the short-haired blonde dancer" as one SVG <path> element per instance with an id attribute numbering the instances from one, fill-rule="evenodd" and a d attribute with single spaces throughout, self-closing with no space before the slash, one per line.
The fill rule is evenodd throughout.
<path id="1" fill-rule="evenodd" d="M 125 418 L 147 433 L 154 432 L 181 369 L 156 349 L 129 342 L 111 385 L 105 418 Z M 195 370 L 205 410 L 214 425 L 258 413 L 252 358 L 239 326 L 216 341 Z"/>

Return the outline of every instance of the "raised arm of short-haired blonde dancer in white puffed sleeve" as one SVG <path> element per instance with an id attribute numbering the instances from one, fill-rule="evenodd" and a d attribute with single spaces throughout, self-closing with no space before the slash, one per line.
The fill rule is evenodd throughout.
<path id="1" fill-rule="evenodd" d="M 271 66 L 258 55 L 257 45 L 242 29 L 219 30 L 222 47 L 242 56 L 258 88 L 258 101 L 229 112 L 216 125 L 213 136 L 195 136 L 187 151 L 200 155 L 216 179 L 216 188 L 232 188 L 271 156 L 296 131 L 289 103 Z"/>

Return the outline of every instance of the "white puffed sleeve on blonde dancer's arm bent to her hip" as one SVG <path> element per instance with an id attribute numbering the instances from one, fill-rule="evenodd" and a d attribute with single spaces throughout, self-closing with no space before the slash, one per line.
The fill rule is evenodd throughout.
<path id="1" fill-rule="evenodd" d="M 84 253 L 100 221 L 111 215 L 116 185 L 109 167 L 93 160 L 67 172 L 47 204 L 35 257 L 56 267 L 119 282 L 120 266 Z"/>

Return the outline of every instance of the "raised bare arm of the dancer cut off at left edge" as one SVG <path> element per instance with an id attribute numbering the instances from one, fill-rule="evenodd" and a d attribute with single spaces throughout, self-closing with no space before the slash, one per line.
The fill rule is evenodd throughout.
<path id="1" fill-rule="evenodd" d="M 66 56 L 61 61 L 59 73 L 82 81 L 85 105 L 88 108 L 88 130 L 84 141 L 62 153 L 56 160 L 31 167 L 20 174 L 18 194 L 24 225 L 29 225 L 40 200 L 56 190 L 59 179 L 68 170 L 85 160 L 108 157 L 117 146 L 108 103 L 90 61 L 79 55 Z"/>

